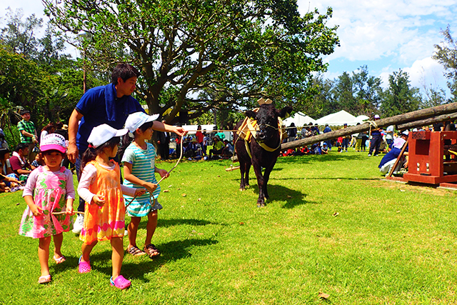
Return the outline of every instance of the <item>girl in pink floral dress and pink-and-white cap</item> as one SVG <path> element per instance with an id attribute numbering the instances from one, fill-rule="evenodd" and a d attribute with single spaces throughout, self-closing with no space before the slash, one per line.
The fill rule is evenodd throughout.
<path id="1" fill-rule="evenodd" d="M 54 261 L 61 264 L 65 257 L 61 253 L 64 236 L 71 229 L 74 186 L 69 169 L 61 166 L 66 146 L 59 134 L 49 134 L 41 142 L 41 154 L 45 166 L 31 172 L 22 196 L 27 207 L 24 211 L 19 234 L 39 239 L 38 258 L 41 266 L 39 284 L 49 283 L 49 244 L 54 237 Z"/>

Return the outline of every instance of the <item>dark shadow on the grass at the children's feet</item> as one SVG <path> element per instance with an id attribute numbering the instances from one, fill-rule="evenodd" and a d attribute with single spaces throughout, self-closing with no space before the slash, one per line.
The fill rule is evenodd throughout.
<path id="1" fill-rule="evenodd" d="M 189 249 L 196 246 L 209 246 L 217 244 L 218 242 L 219 241 L 214 239 L 183 239 L 180 241 L 170 241 L 166 244 L 156 244 L 162 253 L 161 256 L 155 259 L 149 259 L 147 256 L 140 256 L 134 258 L 135 261 L 133 262 L 126 262 L 124 260 L 121 274 L 123 274 L 126 279 L 139 279 L 146 283 L 149 279 L 145 276 L 145 274 L 156 271 L 161 268 L 161 266 L 166 264 L 167 261 L 185 259 L 186 257 L 190 257 L 192 255 Z M 111 277 L 111 251 L 103 251 L 92 254 L 91 261 L 104 261 L 104 266 L 97 266 L 97 264 L 93 264 L 92 269 Z"/>

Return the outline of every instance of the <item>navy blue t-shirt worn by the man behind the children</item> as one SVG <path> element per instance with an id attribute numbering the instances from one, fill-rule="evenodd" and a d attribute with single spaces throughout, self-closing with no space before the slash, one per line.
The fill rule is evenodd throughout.
<path id="1" fill-rule="evenodd" d="M 115 129 L 122 129 L 129 114 L 145 112 L 132 96 L 116 97 L 116 86 L 108 84 L 92 88 L 81 97 L 75 109 L 83 118 L 76 134 L 76 145 L 80 156 L 87 149 L 87 138 L 94 127 L 108 124 Z"/>

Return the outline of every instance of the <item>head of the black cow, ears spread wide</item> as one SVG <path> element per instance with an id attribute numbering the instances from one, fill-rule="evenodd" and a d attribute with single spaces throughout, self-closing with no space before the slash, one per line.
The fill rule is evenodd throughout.
<path id="1" fill-rule="evenodd" d="M 286 106 L 279 111 L 273 104 L 262 104 L 257 112 L 246 111 L 246 116 L 257 121 L 256 141 L 266 141 L 278 134 L 278 117 L 283 118 L 292 110 L 291 106 Z"/>

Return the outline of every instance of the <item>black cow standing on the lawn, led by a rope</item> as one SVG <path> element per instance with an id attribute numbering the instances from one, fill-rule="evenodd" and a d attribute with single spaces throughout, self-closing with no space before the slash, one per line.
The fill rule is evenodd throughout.
<path id="1" fill-rule="evenodd" d="M 246 144 L 245 141 L 241 139 L 242 136 L 240 139 L 237 139 L 237 135 L 235 136 L 236 155 L 240 162 L 241 171 L 240 190 L 243 191 L 246 186 L 249 186 L 249 169 L 251 169 L 252 164 L 258 184 L 257 206 L 265 206 L 265 199 L 268 199 L 266 184 L 268 183 L 271 170 L 273 169 L 274 164 L 276 164 L 276 159 L 278 159 L 281 151 L 281 128 L 278 127 L 278 117 L 283 118 L 287 113 L 290 114 L 291 111 L 292 107 L 289 106 L 278 111 L 273 104 L 262 104 L 257 112 L 250 110 L 246 111 L 246 116 L 256 120 L 258 126 L 255 139 L 251 137 L 247 145 L 250 149 L 252 159 L 249 156 L 248 151 L 246 151 Z M 236 128 L 239 128 L 241 124 L 243 124 L 243 121 L 238 122 Z M 263 149 L 259 143 L 271 148 L 268 150 L 273 151 Z M 262 168 L 265 169 L 263 175 Z"/>

